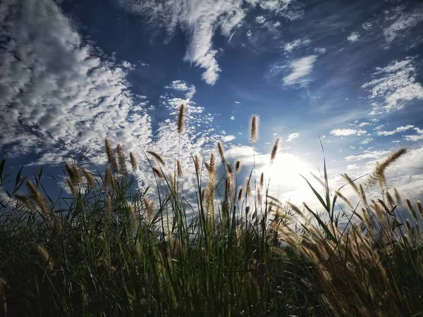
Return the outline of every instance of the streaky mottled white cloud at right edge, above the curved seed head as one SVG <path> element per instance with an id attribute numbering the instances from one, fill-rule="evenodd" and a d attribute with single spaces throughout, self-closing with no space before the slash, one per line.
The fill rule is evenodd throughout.
<path id="1" fill-rule="evenodd" d="M 423 100 L 423 87 L 417 82 L 413 58 L 393 61 L 384 68 L 376 68 L 372 74 L 377 77 L 362 85 L 370 92 L 369 98 L 375 99 L 372 114 L 399 110 L 407 101 Z M 379 103 L 378 99 L 384 102 Z"/>

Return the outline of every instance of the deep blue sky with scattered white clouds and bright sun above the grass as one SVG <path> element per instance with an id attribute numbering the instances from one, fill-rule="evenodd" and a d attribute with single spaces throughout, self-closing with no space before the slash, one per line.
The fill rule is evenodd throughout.
<path id="1" fill-rule="evenodd" d="M 297 203 L 312 199 L 300 174 L 319 175 L 324 157 L 337 189 L 340 173 L 359 177 L 405 147 L 388 182 L 420 199 L 421 30 L 417 0 L 3 0 L 0 150 L 12 170 L 44 166 L 44 182 L 63 185 L 82 149 L 104 168 L 108 138 L 136 154 L 140 186 L 154 180 L 142 149 L 168 166 L 179 153 L 188 188 L 190 155 L 221 141 L 243 176 L 255 163 Z"/>

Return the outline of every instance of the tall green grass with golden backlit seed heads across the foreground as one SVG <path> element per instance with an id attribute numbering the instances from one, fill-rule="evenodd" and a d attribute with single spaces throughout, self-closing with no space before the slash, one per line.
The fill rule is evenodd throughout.
<path id="1" fill-rule="evenodd" d="M 269 195 L 255 168 L 240 187 L 223 144 L 220 163 L 192 157 L 189 192 L 178 158 L 169 168 L 146 151 L 157 187 L 141 192 L 134 154 L 105 148 L 102 174 L 66 165 L 71 194 L 56 200 L 42 172 L 12 179 L 1 161 L 13 189 L 1 196 L 0 316 L 423 316 L 422 206 L 384 177 L 405 150 L 367 178 L 343 175 L 358 204 L 330 192 L 325 164 L 323 193 L 309 183 L 314 211 Z M 376 185 L 381 197 L 367 197 Z"/>

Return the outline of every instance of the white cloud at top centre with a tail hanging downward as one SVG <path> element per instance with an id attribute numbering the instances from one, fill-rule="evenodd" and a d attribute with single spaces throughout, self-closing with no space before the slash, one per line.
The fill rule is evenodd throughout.
<path id="1" fill-rule="evenodd" d="M 178 27 L 188 37 L 185 61 L 203 68 L 202 79 L 214 85 L 221 69 L 216 59 L 217 49 L 212 38 L 216 30 L 230 38 L 234 30 L 243 24 L 251 8 L 257 5 L 271 13 L 295 18 L 295 13 L 288 11 L 291 0 L 243 1 L 243 0 L 116 0 L 121 7 L 142 15 L 153 27 L 160 27 L 172 36 Z M 298 15 L 298 14 L 296 14 Z M 301 18 L 298 15 L 298 18 Z M 264 16 L 256 18 L 264 23 Z M 247 33 L 248 37 L 248 33 Z"/>

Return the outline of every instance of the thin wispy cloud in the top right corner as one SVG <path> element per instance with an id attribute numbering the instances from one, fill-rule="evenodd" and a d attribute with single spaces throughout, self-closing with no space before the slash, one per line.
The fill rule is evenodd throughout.
<path id="1" fill-rule="evenodd" d="M 415 11 L 400 13 L 396 21 L 384 29 L 386 42 L 391 44 L 396 37 L 405 37 L 407 31 L 417 26 L 423 21 L 423 6 L 419 6 Z"/>

